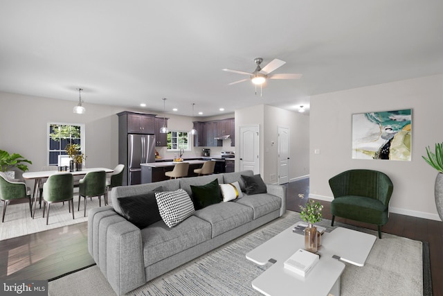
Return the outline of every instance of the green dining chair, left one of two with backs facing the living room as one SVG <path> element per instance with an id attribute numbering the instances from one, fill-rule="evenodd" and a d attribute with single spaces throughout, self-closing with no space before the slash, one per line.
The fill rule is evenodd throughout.
<path id="1" fill-rule="evenodd" d="M 46 225 L 49 220 L 49 209 L 54 202 L 69 202 L 69 212 L 72 209 L 72 218 L 74 219 L 74 177 L 71 173 L 60 173 L 48 177 L 43 184 L 43 218 L 46 216 Z"/>

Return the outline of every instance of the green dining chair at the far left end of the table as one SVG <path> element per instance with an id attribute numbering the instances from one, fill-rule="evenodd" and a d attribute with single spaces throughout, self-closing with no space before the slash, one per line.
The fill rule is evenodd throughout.
<path id="1" fill-rule="evenodd" d="M 30 216 L 33 216 L 32 205 L 30 202 L 30 189 L 24 182 L 14 182 L 9 180 L 5 173 L 0 172 L 0 200 L 3 200 L 3 216 L 1 223 L 5 220 L 6 207 L 11 200 L 18 200 L 21 198 L 28 198 Z"/>

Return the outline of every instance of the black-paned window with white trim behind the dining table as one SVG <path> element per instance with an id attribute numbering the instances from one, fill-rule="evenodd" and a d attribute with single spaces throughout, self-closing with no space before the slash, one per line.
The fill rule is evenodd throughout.
<path id="1" fill-rule="evenodd" d="M 84 153 L 84 125 L 48 123 L 48 165 L 57 166 L 59 155 L 66 155 L 66 145 L 78 145 Z"/>

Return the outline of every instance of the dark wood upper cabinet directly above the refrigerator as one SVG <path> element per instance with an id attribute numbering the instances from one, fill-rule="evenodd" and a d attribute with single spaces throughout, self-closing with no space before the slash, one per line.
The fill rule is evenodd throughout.
<path id="1" fill-rule="evenodd" d="M 136 112 L 120 112 L 118 125 L 128 134 L 154 134 L 155 114 L 143 114 Z"/>

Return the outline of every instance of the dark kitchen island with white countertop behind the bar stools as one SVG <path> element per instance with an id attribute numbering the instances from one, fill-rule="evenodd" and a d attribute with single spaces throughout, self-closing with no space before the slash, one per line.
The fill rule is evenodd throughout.
<path id="1" fill-rule="evenodd" d="M 183 162 L 189 163 L 188 177 L 195 177 L 197 174 L 194 173 L 194 170 L 201 168 L 206 160 L 185 159 Z M 165 176 L 165 172 L 172 171 L 178 163 L 179 162 L 150 162 L 141 164 L 141 184 L 168 180 L 169 177 Z"/>

